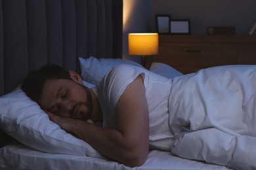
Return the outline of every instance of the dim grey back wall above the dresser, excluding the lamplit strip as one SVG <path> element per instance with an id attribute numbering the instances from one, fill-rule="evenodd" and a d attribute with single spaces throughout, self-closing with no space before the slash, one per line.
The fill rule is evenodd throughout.
<path id="1" fill-rule="evenodd" d="M 206 34 L 207 26 L 235 26 L 244 35 L 256 22 L 255 7 L 255 0 L 151 0 L 150 31 L 156 31 L 156 14 L 170 14 L 190 19 L 193 35 Z"/>

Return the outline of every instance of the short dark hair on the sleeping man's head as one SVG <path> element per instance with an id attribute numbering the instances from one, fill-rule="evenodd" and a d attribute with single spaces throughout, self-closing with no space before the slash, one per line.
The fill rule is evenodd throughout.
<path id="1" fill-rule="evenodd" d="M 66 69 L 58 65 L 50 64 L 44 65 L 40 69 L 30 72 L 22 83 L 21 88 L 28 97 L 38 103 L 39 98 L 42 95 L 45 81 L 51 79 L 72 80 Z"/>

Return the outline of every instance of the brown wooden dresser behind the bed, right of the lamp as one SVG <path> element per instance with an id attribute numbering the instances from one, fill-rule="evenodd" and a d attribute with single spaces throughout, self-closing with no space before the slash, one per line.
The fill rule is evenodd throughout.
<path id="1" fill-rule="evenodd" d="M 146 68 L 153 62 L 184 74 L 217 65 L 256 64 L 256 36 L 160 35 L 159 54 L 146 56 Z"/>

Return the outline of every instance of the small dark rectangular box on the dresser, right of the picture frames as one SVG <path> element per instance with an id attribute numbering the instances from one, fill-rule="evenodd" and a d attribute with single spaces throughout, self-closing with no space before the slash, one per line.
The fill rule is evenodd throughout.
<path id="1" fill-rule="evenodd" d="M 235 35 L 236 27 L 210 26 L 207 27 L 207 35 Z"/>

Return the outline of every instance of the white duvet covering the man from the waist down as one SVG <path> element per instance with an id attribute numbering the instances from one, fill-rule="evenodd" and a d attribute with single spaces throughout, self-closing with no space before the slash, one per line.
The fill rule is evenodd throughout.
<path id="1" fill-rule="evenodd" d="M 173 78 L 171 152 L 234 169 L 256 169 L 256 65 Z"/>

